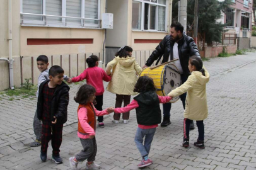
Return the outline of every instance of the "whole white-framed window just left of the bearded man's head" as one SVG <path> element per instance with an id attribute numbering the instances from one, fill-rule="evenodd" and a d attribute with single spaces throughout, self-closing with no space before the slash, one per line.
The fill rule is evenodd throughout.
<path id="1" fill-rule="evenodd" d="M 132 1 L 132 30 L 166 30 L 166 0 Z"/>

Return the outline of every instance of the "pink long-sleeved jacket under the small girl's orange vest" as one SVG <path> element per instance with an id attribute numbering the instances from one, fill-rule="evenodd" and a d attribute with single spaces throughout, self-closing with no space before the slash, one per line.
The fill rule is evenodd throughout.
<path id="1" fill-rule="evenodd" d="M 107 110 L 103 111 L 98 111 L 96 108 L 94 108 L 96 116 L 103 116 L 103 115 L 108 115 Z M 78 111 L 78 119 L 80 122 L 81 127 L 83 130 L 87 133 L 88 135 L 83 135 L 78 132 L 78 137 L 81 139 L 88 139 L 91 135 L 95 135 L 95 130 L 88 124 L 87 120 L 87 109 L 86 108 L 80 108 Z"/>

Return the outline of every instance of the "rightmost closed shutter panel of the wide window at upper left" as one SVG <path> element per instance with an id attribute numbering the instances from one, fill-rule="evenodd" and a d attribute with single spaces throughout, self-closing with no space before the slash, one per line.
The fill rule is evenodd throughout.
<path id="1" fill-rule="evenodd" d="M 84 18 L 98 19 L 98 0 L 84 0 Z M 97 24 L 98 21 L 85 20 L 85 23 Z"/>

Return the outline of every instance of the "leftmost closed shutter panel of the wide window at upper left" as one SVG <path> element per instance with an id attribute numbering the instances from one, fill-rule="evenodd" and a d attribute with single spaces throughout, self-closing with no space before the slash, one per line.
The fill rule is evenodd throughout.
<path id="1" fill-rule="evenodd" d="M 43 0 L 23 0 L 23 13 L 43 14 Z M 24 15 L 24 20 L 42 20 L 42 16 Z"/>

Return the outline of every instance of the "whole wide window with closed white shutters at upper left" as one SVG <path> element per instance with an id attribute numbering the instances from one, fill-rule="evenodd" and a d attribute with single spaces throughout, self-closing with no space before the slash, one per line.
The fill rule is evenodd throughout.
<path id="1" fill-rule="evenodd" d="M 100 28 L 100 0 L 20 0 L 21 25 Z"/>

